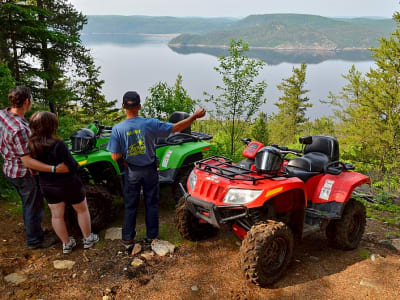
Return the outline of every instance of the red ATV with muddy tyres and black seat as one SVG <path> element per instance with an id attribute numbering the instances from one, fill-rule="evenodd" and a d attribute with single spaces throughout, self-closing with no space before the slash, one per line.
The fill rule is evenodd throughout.
<path id="1" fill-rule="evenodd" d="M 222 156 L 195 163 L 176 210 L 184 238 L 201 240 L 229 224 L 243 240 L 241 268 L 260 286 L 282 276 L 294 241 L 308 233 L 324 230 L 331 245 L 358 247 L 366 212 L 352 194 L 370 179 L 339 161 L 335 138 L 302 137 L 302 151 L 243 141 L 246 159 L 237 164 Z"/>

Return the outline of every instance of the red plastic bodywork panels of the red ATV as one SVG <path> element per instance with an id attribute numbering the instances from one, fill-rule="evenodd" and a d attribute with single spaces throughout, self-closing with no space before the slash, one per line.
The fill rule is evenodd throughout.
<path id="1" fill-rule="evenodd" d="M 212 165 L 216 162 L 208 161 L 207 163 Z M 256 181 L 255 184 L 252 181 L 240 180 L 240 175 L 236 176 L 239 180 L 231 180 L 210 174 L 203 169 L 195 168 L 193 171 L 197 176 L 196 185 L 192 190 L 187 184 L 187 189 L 197 199 L 211 202 L 217 206 L 224 206 L 230 205 L 230 203 L 223 202 L 230 188 L 262 190 L 258 198 L 245 204 L 246 207 L 261 207 L 273 198 L 274 207 L 278 213 L 292 209 L 305 209 L 309 200 L 313 203 L 346 202 L 355 187 L 370 183 L 368 176 L 352 171 L 343 171 L 339 175 L 319 174 L 308 179 L 306 183 L 297 177 L 277 176 Z M 256 172 L 251 173 L 251 175 L 258 178 L 262 177 Z M 286 196 L 287 194 L 285 195 L 286 192 L 293 190 L 299 190 L 304 194 L 304 203 L 294 203 L 292 199 Z M 243 239 L 246 231 L 236 224 L 233 226 L 235 234 Z"/>

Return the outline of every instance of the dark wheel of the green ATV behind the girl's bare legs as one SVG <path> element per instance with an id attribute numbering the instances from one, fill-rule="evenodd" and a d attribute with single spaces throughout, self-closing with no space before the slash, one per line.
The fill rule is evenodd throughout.
<path id="1" fill-rule="evenodd" d="M 98 232 L 108 225 L 114 217 L 114 201 L 111 193 L 102 186 L 85 185 L 86 201 L 90 214 L 92 231 Z M 80 234 L 76 213 L 72 206 L 65 209 L 65 220 L 68 231 Z"/>

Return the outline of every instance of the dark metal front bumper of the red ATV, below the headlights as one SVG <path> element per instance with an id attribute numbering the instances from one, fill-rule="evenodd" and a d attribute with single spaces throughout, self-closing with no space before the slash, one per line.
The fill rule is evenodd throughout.
<path id="1" fill-rule="evenodd" d="M 192 196 L 186 197 L 190 212 L 199 219 L 219 228 L 221 224 L 243 218 L 248 215 L 248 209 L 241 204 L 217 206 Z"/>

